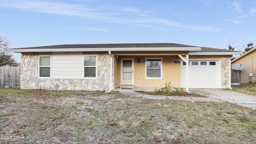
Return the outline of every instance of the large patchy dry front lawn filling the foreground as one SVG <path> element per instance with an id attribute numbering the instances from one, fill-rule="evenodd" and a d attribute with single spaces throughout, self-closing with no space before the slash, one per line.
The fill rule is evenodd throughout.
<path id="1" fill-rule="evenodd" d="M 119 92 L 0 89 L 0 143 L 256 143 L 256 111 Z"/>

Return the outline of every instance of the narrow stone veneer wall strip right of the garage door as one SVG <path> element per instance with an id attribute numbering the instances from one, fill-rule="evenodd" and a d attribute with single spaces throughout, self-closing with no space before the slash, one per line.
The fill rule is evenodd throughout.
<path id="1" fill-rule="evenodd" d="M 228 60 L 230 56 L 222 56 L 221 57 L 221 88 L 229 88 L 228 84 Z"/>

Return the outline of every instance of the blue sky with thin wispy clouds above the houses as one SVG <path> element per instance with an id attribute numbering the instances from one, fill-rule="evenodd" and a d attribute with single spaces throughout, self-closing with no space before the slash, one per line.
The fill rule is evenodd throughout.
<path id="1" fill-rule="evenodd" d="M 243 51 L 256 43 L 255 0 L 0 0 L 0 13 L 9 48 L 177 43 Z"/>

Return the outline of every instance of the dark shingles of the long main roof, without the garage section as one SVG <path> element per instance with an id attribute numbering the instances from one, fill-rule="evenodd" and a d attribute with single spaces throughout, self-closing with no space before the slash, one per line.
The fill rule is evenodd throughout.
<path id="1" fill-rule="evenodd" d="M 154 47 L 199 47 L 188 46 L 184 44 L 174 43 L 141 43 L 141 44 L 64 44 L 54 46 L 38 46 L 29 48 L 15 48 L 15 49 L 50 49 L 50 48 L 154 48 Z"/>

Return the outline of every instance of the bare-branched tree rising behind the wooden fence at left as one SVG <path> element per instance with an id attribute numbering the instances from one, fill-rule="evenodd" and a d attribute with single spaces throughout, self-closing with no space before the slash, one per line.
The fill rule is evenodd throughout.
<path id="1" fill-rule="evenodd" d="M 13 55 L 6 51 L 9 49 L 9 46 L 9 39 L 6 36 L 0 36 L 0 66 L 18 66 Z"/>

